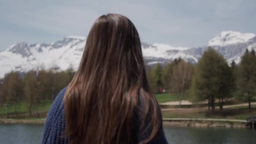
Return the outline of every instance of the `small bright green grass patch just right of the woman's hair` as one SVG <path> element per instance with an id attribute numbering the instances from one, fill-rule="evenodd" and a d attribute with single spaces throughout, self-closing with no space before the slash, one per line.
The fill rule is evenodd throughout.
<path id="1" fill-rule="evenodd" d="M 168 102 L 168 101 L 179 101 L 180 97 L 179 94 L 170 94 L 170 93 L 157 93 L 155 97 L 159 103 Z M 187 97 L 185 96 L 185 99 Z"/>

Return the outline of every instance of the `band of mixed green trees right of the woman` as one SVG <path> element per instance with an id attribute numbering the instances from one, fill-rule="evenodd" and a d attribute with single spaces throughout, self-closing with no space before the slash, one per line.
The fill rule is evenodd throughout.
<path id="1" fill-rule="evenodd" d="M 223 109 L 225 100 L 235 98 L 248 102 L 256 95 L 256 55 L 246 49 L 240 64 L 228 64 L 213 48 L 204 51 L 197 64 L 175 59 L 166 64 L 147 67 L 151 89 L 165 88 L 168 93 L 179 94 L 180 104 L 184 96 L 193 103 L 207 101 L 208 110 L 214 111 L 216 103 Z"/>

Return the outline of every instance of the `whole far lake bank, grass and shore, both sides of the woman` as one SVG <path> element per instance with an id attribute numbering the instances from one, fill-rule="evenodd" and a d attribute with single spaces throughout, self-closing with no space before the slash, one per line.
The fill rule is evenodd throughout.
<path id="1" fill-rule="evenodd" d="M 176 127 L 225 127 L 242 128 L 245 127 L 247 117 L 256 115 L 256 104 L 252 103 L 252 109 L 248 109 L 247 104 L 237 104 L 236 101 L 229 102 L 224 109 L 218 109 L 214 112 L 208 111 L 208 107 L 197 107 L 189 105 L 177 105 L 179 101 L 169 102 L 170 105 L 161 105 L 163 124 Z M 172 105 L 174 104 L 174 105 Z M 0 109 L 0 124 L 44 124 L 51 101 L 44 101 L 39 109 L 39 118 L 36 118 L 35 109 L 32 114 L 27 112 L 26 104 L 19 103 L 18 114 L 9 107 L 9 119 L 6 119 L 5 111 Z M 191 119 L 193 117 L 194 119 Z M 179 120 L 177 120 L 179 119 Z M 200 119 L 200 120 L 199 120 Z M 213 120 L 212 120 L 213 119 Z M 229 121 L 230 119 L 235 121 Z M 238 120 L 238 121 L 237 121 Z M 242 121 L 240 121 L 242 120 Z"/>

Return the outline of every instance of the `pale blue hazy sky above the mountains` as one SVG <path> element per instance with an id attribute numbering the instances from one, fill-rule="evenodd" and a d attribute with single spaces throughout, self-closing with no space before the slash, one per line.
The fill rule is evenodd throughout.
<path id="1" fill-rule="evenodd" d="M 101 15 L 119 13 L 144 43 L 206 45 L 221 31 L 256 33 L 256 0 L 0 0 L 0 51 L 25 41 L 87 36 Z"/>

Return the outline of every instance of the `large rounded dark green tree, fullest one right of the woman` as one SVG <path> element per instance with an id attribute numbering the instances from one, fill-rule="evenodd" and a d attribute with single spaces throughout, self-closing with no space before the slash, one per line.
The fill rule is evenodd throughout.
<path id="1" fill-rule="evenodd" d="M 208 109 L 210 110 L 211 108 L 214 111 L 215 99 L 218 98 L 222 108 L 223 99 L 230 96 L 233 85 L 232 77 L 231 70 L 223 56 L 213 48 L 208 48 L 197 65 L 192 88 L 195 88 L 196 90 L 194 91 L 199 94 L 196 95 L 198 98 L 193 99 L 207 99 Z M 192 94 L 190 95 L 193 96 Z"/>

